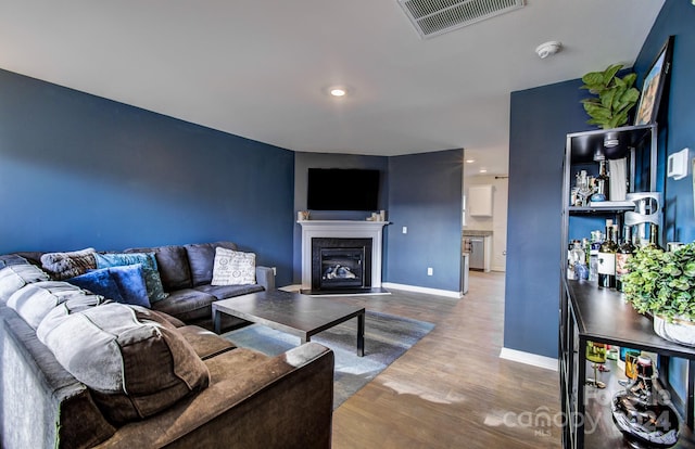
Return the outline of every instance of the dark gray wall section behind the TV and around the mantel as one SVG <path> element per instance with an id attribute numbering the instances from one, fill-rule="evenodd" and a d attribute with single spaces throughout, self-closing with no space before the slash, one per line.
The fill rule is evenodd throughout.
<path id="1" fill-rule="evenodd" d="M 389 205 L 389 158 L 386 156 L 366 156 L 358 154 L 303 153 L 294 155 L 294 209 L 306 210 L 306 180 L 309 168 L 367 168 L 379 170 L 379 210 Z M 374 210 L 377 211 L 377 210 Z M 314 220 L 364 220 L 368 211 L 352 210 L 311 210 Z M 387 235 L 389 227 L 384 227 L 383 260 L 388 257 Z M 381 273 L 384 278 L 383 272 Z M 294 223 L 294 283 L 302 283 L 302 227 Z"/>

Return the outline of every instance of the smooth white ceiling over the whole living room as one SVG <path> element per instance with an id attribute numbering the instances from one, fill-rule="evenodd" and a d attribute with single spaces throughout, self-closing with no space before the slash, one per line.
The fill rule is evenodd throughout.
<path id="1" fill-rule="evenodd" d="M 528 0 L 421 40 L 396 0 L 0 0 L 0 68 L 294 151 L 465 147 L 506 174 L 509 92 L 631 66 L 662 3 Z"/>

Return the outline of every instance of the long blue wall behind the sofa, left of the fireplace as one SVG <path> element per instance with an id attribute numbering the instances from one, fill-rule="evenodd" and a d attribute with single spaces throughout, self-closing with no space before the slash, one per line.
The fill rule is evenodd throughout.
<path id="1" fill-rule="evenodd" d="M 292 280 L 294 154 L 0 69 L 0 253 L 230 240 Z"/>

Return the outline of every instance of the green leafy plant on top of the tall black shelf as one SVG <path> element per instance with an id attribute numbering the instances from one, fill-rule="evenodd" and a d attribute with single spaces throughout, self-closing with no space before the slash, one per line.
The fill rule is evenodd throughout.
<path id="1" fill-rule="evenodd" d="M 591 117 L 587 124 L 611 129 L 628 123 L 630 111 L 640 99 L 640 91 L 633 87 L 636 74 L 623 78 L 616 76 L 621 68 L 622 64 L 614 64 L 603 72 L 590 72 L 582 77 L 584 86 L 580 89 L 598 95 L 581 101 Z"/>

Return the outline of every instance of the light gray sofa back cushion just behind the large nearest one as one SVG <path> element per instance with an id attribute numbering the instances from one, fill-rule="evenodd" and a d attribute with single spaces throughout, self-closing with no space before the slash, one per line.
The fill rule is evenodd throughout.
<path id="1" fill-rule="evenodd" d="M 16 310 L 31 328 L 39 323 L 53 308 L 76 296 L 93 296 L 63 281 L 45 281 L 27 284 L 8 299 L 8 307 Z"/>

